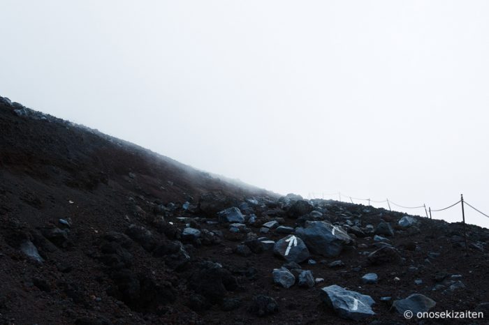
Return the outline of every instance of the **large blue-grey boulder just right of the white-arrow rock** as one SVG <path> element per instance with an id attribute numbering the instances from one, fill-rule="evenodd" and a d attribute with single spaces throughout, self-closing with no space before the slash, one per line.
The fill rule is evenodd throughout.
<path id="1" fill-rule="evenodd" d="M 311 252 L 326 257 L 337 257 L 344 244 L 351 241 L 342 227 L 326 221 L 307 221 L 305 227 L 295 230 L 295 234 L 305 242 Z"/>

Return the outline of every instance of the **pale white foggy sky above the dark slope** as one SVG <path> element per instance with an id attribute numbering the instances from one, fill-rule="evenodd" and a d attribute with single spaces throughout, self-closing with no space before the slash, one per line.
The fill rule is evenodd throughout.
<path id="1" fill-rule="evenodd" d="M 2 0 L 1 16 L 0 96 L 27 107 L 282 194 L 463 193 L 489 212 L 488 1 Z"/>

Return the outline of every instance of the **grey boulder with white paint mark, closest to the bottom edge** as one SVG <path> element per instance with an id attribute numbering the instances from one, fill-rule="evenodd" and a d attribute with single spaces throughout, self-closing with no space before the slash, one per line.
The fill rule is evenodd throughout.
<path id="1" fill-rule="evenodd" d="M 339 285 L 330 285 L 321 289 L 322 300 L 333 308 L 337 315 L 347 319 L 361 320 L 375 315 L 371 296 L 346 290 Z"/>

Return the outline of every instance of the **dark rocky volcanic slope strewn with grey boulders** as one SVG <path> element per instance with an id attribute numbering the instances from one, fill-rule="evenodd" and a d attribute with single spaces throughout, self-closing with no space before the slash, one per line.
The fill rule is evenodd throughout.
<path id="1" fill-rule="evenodd" d="M 236 184 L 0 98 L 0 324 L 487 324 L 489 230 Z M 163 139 L 173 141 L 172 139 Z"/>

